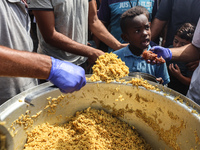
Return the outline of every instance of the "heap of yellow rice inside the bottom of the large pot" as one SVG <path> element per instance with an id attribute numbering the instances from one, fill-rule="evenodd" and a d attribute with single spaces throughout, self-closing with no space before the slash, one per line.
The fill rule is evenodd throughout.
<path id="1" fill-rule="evenodd" d="M 76 112 L 63 125 L 43 123 L 28 133 L 25 150 L 44 149 L 144 149 L 151 147 L 134 127 L 103 110 Z"/>

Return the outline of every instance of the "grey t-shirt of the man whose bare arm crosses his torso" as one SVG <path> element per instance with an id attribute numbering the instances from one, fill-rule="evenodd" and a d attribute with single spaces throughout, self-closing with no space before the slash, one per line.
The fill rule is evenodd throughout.
<path id="1" fill-rule="evenodd" d="M 55 29 L 72 40 L 84 44 L 88 41 L 88 0 L 30 0 L 29 10 L 54 11 Z M 39 31 L 39 29 L 38 29 Z M 47 44 L 38 32 L 38 53 L 80 65 L 86 57 L 64 52 Z"/>

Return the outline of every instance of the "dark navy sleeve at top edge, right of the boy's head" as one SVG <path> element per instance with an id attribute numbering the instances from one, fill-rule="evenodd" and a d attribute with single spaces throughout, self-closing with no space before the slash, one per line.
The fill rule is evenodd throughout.
<path id="1" fill-rule="evenodd" d="M 173 0 L 162 0 L 155 17 L 161 21 L 168 21 L 171 16 L 172 7 Z"/>

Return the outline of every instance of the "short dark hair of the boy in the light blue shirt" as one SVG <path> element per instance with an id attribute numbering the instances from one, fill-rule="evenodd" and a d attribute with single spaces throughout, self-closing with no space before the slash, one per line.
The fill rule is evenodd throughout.
<path id="1" fill-rule="evenodd" d="M 147 18 L 149 19 L 149 11 L 143 6 L 135 6 L 125 11 L 121 15 L 121 21 L 120 21 L 120 27 L 121 27 L 122 32 L 126 32 L 126 29 L 129 24 L 128 21 L 130 21 L 130 19 L 133 19 L 136 16 L 139 16 L 141 14 L 146 15 Z"/>

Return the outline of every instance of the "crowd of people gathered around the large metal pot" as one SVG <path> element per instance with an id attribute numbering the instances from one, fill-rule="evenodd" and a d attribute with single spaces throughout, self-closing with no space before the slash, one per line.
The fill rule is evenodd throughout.
<path id="1" fill-rule="evenodd" d="M 154 75 L 200 104 L 199 6 L 199 0 L 0 1 L 0 104 L 38 85 L 38 79 L 64 93 L 80 90 L 85 74 L 105 54 L 88 44 L 90 34 L 130 72 Z M 30 36 L 30 12 L 37 25 L 37 45 Z M 143 60 L 145 50 L 166 63 Z"/>

